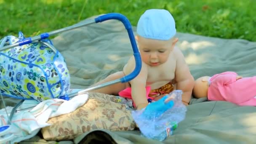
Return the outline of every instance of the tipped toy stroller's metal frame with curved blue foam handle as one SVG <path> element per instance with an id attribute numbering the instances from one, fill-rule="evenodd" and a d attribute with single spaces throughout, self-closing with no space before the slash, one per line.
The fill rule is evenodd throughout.
<path id="1" fill-rule="evenodd" d="M 69 30 L 72 30 L 72 29 L 77 29 L 79 27 L 88 26 L 90 24 L 95 24 L 95 23 L 107 21 L 107 20 L 110 20 L 110 19 L 116 19 L 116 20 L 121 21 L 124 24 L 125 29 L 127 29 L 127 32 L 128 32 L 128 35 L 129 35 L 129 39 L 130 39 L 130 42 L 131 42 L 131 45 L 132 45 L 132 49 L 133 49 L 133 56 L 135 58 L 135 64 L 136 64 L 135 69 L 129 75 L 126 75 L 126 76 L 124 76 L 124 77 L 122 77 L 120 79 L 112 80 L 112 81 L 107 82 L 107 83 L 102 83 L 100 85 L 89 87 L 89 88 L 86 88 L 84 90 L 81 90 L 81 91 L 78 91 L 78 92 L 75 92 L 75 93 L 70 93 L 67 96 L 69 98 L 72 98 L 72 97 L 77 96 L 79 94 L 83 94 L 83 93 L 86 93 L 88 91 L 92 91 L 92 90 L 96 90 L 96 89 L 99 89 L 99 88 L 103 88 L 103 87 L 106 87 L 108 85 L 113 85 L 115 83 L 126 83 L 128 81 L 131 81 L 133 78 L 135 78 L 139 74 L 139 72 L 141 71 L 141 56 L 139 54 L 139 50 L 138 50 L 137 45 L 136 45 L 136 41 L 135 41 L 135 38 L 134 38 L 134 35 L 133 35 L 131 23 L 130 23 L 130 21 L 124 15 L 122 15 L 120 13 L 107 13 L 107 14 L 98 16 L 95 19 L 86 21 L 86 22 L 81 23 L 81 24 L 75 24 L 75 25 L 72 25 L 72 26 L 69 26 L 69 27 L 65 27 L 65 28 L 62 28 L 62 29 L 57 29 L 57 30 L 54 30 L 52 32 L 48 32 L 48 33 L 43 33 L 41 35 L 37 35 L 35 37 L 25 38 L 24 40 L 20 41 L 19 43 L 14 43 L 12 45 L 3 46 L 4 43 L 7 40 L 7 37 L 4 37 L 3 38 L 3 42 L 0 44 L 0 51 L 4 51 L 4 50 L 9 49 L 9 48 L 14 48 L 16 46 L 26 45 L 26 44 L 33 43 L 33 42 L 39 42 L 39 43 L 42 43 L 42 44 L 48 46 L 49 48 L 51 48 L 53 50 L 53 52 L 56 53 L 56 51 L 57 51 L 56 48 L 54 48 L 52 45 L 50 45 L 48 43 L 45 43 L 45 42 L 43 42 L 41 40 L 44 40 L 44 39 L 46 39 L 46 38 L 48 38 L 48 37 L 50 37 L 52 35 L 56 35 L 56 34 L 59 34 L 61 32 L 66 32 L 66 31 L 69 31 Z M 5 107 L 5 102 L 3 100 L 2 93 L 0 93 L 0 96 L 1 96 L 1 99 L 2 99 L 4 107 Z M 2 138 L 1 137 L 1 135 L 4 135 L 4 134 L 6 134 L 9 131 L 10 125 L 11 125 L 11 118 L 13 117 L 14 113 L 22 111 L 22 110 L 26 110 L 26 109 L 31 109 L 31 108 L 35 107 L 35 106 L 28 107 L 26 109 L 20 109 L 19 111 L 17 111 L 16 109 L 22 104 L 23 101 L 24 101 L 24 99 L 21 100 L 19 103 L 17 103 L 15 107 L 13 107 L 10 116 L 8 116 L 8 113 L 7 113 L 7 110 L 6 110 L 6 107 L 5 107 L 5 111 L 6 111 L 6 114 L 7 114 L 7 117 L 8 117 L 8 125 L 3 125 L 3 126 L 0 127 L 0 138 L 1 138 L 0 142 L 7 142 L 13 136 L 13 135 L 10 135 L 10 136 L 8 136 L 6 138 Z"/>

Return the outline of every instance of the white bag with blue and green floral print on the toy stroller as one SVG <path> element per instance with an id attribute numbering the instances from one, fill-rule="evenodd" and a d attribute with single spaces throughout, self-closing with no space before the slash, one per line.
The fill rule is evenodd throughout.
<path id="1" fill-rule="evenodd" d="M 19 37 L 6 36 L 1 46 L 19 43 Z M 17 99 L 46 99 L 66 96 L 70 76 L 63 56 L 51 40 L 45 39 L 0 52 L 0 91 Z"/>

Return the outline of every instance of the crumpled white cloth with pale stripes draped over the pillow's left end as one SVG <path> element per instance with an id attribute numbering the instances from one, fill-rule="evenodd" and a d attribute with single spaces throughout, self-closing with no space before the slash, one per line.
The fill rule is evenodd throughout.
<path id="1" fill-rule="evenodd" d="M 25 100 L 21 104 L 20 109 L 35 106 L 31 110 L 24 110 L 14 113 L 11 120 L 11 133 L 14 138 L 11 143 L 20 142 L 35 136 L 40 128 L 49 126 L 47 123 L 51 117 L 64 115 L 75 111 L 78 107 L 85 104 L 88 100 L 88 93 L 80 94 L 73 97 L 69 101 L 63 99 L 48 99 L 38 103 L 35 100 Z M 10 115 L 13 107 L 6 107 L 8 115 Z M 0 109 L 0 126 L 7 125 L 8 117 L 5 109 Z"/>

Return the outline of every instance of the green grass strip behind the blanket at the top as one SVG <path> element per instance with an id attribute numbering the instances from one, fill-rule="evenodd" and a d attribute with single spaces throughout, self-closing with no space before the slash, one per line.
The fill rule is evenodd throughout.
<path id="1" fill-rule="evenodd" d="M 150 8 L 170 11 L 178 32 L 256 41 L 256 0 L 0 0 L 0 37 L 35 36 L 112 12 L 136 26 Z"/>

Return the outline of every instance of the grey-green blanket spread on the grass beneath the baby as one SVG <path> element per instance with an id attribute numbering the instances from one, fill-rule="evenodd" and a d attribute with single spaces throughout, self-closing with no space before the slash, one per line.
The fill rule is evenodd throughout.
<path id="1" fill-rule="evenodd" d="M 136 27 L 133 28 L 136 35 Z M 243 77 L 255 75 L 256 43 L 179 32 L 176 37 L 179 38 L 177 46 L 184 53 L 195 79 L 224 71 L 235 71 Z M 126 29 L 116 20 L 64 32 L 55 37 L 53 43 L 66 59 L 72 88 L 87 88 L 107 75 L 120 71 L 133 54 Z M 185 120 L 163 143 L 254 143 L 255 120 L 256 107 L 239 107 L 225 101 L 193 98 L 187 107 Z M 160 143 L 141 136 L 139 131 L 107 130 L 84 133 L 74 142 L 97 143 L 103 140 L 119 144 Z"/>

